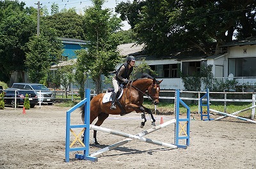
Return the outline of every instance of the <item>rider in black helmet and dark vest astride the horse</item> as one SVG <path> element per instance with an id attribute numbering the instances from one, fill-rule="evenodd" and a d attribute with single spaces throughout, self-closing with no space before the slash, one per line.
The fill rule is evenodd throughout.
<path id="1" fill-rule="evenodd" d="M 116 94 L 119 89 L 120 83 L 127 84 L 129 82 L 130 75 L 132 73 L 133 67 L 135 65 L 135 57 L 132 55 L 127 56 L 126 62 L 120 66 L 120 68 L 116 71 L 116 74 L 114 75 L 112 79 L 113 87 L 115 91 L 112 94 L 112 103 L 111 103 L 111 110 L 115 110 L 115 100 L 116 100 Z"/>

